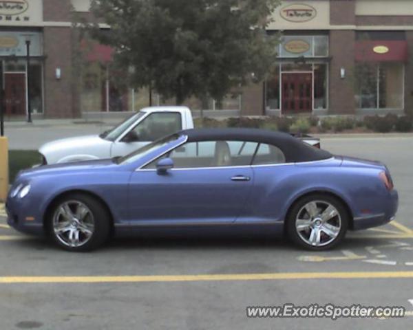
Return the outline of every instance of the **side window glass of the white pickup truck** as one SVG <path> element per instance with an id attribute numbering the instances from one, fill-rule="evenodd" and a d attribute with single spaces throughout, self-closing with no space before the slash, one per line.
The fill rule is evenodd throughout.
<path id="1" fill-rule="evenodd" d="M 156 141 L 161 137 L 182 129 L 181 115 L 178 112 L 151 113 L 134 128 L 138 141 Z"/>

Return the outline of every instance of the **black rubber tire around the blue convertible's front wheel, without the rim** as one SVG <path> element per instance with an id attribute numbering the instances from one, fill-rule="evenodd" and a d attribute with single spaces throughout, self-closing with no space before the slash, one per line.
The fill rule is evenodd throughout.
<path id="1" fill-rule="evenodd" d="M 92 235 L 84 245 L 78 247 L 65 245 L 54 232 L 54 216 L 56 212 L 58 212 L 60 206 L 69 201 L 78 201 L 83 203 L 92 212 L 94 219 L 94 230 Z M 59 199 L 59 201 L 54 202 L 53 206 L 50 208 L 46 223 L 47 234 L 49 234 L 52 241 L 59 245 L 60 248 L 63 248 L 63 250 L 70 252 L 89 252 L 96 250 L 103 245 L 107 239 L 109 239 L 109 234 L 111 231 L 110 228 L 111 216 L 108 214 L 105 205 L 103 205 L 103 203 L 101 203 L 98 199 L 81 193 L 66 195 L 62 199 Z"/>

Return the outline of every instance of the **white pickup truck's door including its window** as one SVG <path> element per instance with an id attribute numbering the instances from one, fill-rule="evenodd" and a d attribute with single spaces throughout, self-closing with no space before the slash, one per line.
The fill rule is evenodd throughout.
<path id="1" fill-rule="evenodd" d="M 112 144 L 111 156 L 125 156 L 181 129 L 182 118 L 179 112 L 151 113 Z"/>

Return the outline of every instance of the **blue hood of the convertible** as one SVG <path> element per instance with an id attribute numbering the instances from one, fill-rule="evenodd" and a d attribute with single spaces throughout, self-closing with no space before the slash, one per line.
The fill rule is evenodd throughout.
<path id="1" fill-rule="evenodd" d="M 30 177 L 36 177 L 40 175 L 50 174 L 65 174 L 65 173 L 77 173 L 77 172 L 96 172 L 97 170 L 109 168 L 109 166 L 119 166 L 112 159 L 98 159 L 86 162 L 76 162 L 67 164 L 54 164 L 39 166 L 36 168 L 30 168 L 28 170 L 22 170 L 17 179 L 29 179 Z"/>

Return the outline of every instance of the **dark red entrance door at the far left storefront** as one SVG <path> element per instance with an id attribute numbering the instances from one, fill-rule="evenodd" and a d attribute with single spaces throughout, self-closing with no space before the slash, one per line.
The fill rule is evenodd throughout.
<path id="1" fill-rule="evenodd" d="M 25 74 L 4 74 L 4 80 L 6 115 L 25 115 Z"/>

